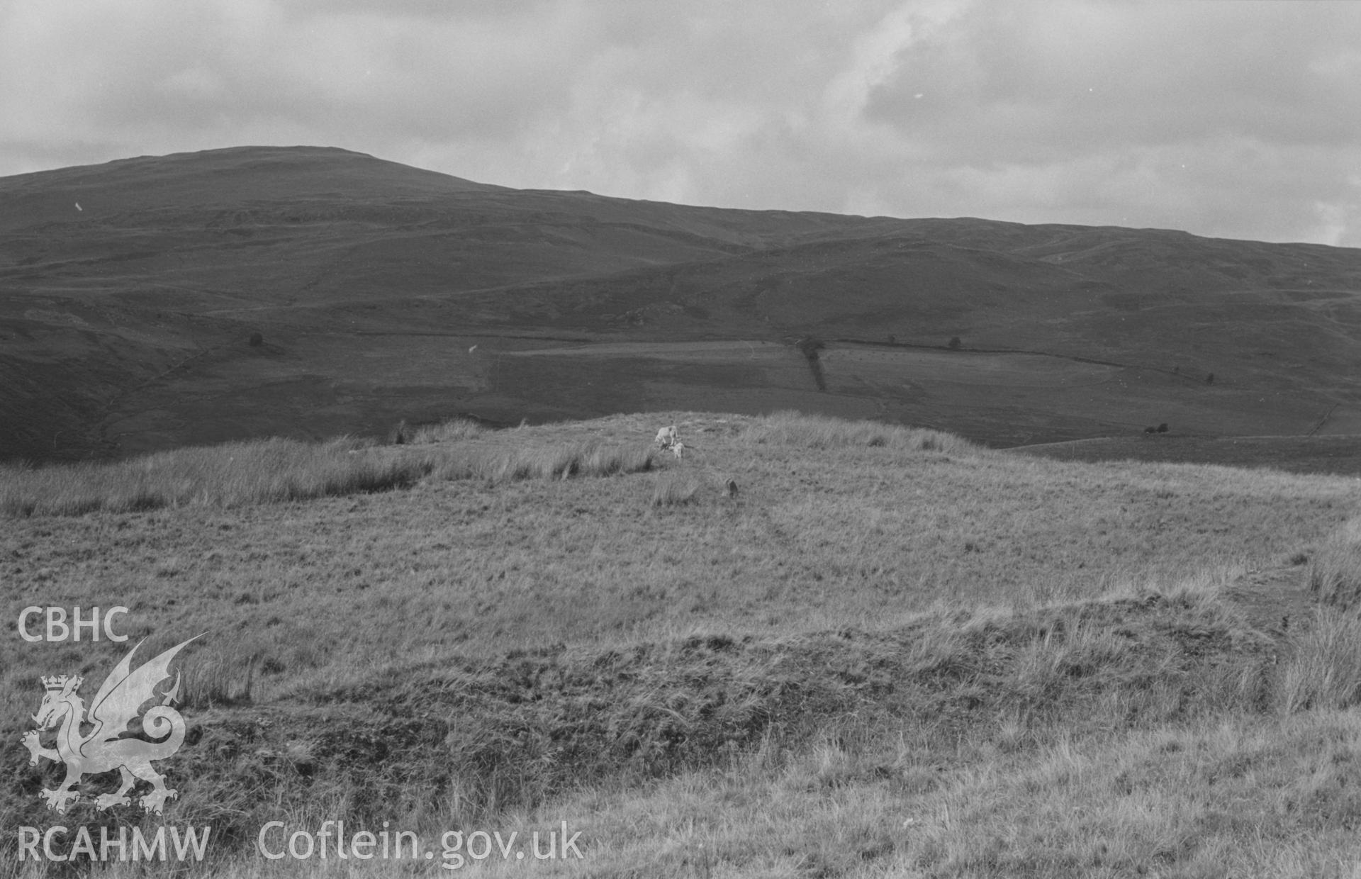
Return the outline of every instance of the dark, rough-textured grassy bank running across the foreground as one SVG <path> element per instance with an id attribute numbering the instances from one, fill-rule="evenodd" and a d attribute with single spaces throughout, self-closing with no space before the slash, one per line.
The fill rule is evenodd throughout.
<path id="1" fill-rule="evenodd" d="M 940 766 L 962 770 L 984 755 L 960 754 L 973 731 L 995 729 L 998 747 L 1014 752 L 1057 729 L 1093 736 L 1241 712 L 1214 698 L 1204 674 L 1213 659 L 1259 648 L 1236 625 L 1210 601 L 1155 593 L 940 611 L 887 631 L 710 634 L 407 663 L 295 687 L 248 714 L 200 714 L 211 747 L 177 763 L 196 797 L 225 785 L 223 799 L 241 801 L 276 780 L 263 801 L 215 816 L 218 833 L 234 838 L 279 810 L 352 826 L 406 816 L 430 834 L 431 814 L 445 827 L 487 825 L 583 786 L 627 789 L 759 752 L 784 755 L 769 761 L 776 788 L 833 792 L 900 772 L 874 763 L 885 729 L 915 731 L 915 751 L 953 752 Z M 1198 640 L 1184 641 L 1184 630 Z M 1222 642 L 1215 657 L 1195 650 L 1206 637 Z M 215 657 L 195 660 L 186 683 L 204 706 L 195 672 L 215 676 L 218 690 L 234 676 Z M 808 754 L 821 765 L 800 774 Z M 314 808 L 318 797 L 329 811 Z M 197 801 L 180 814 L 196 814 Z"/>

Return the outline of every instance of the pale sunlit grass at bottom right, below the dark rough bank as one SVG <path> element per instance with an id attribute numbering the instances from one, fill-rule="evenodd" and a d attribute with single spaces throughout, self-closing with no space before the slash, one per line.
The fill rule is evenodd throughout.
<path id="1" fill-rule="evenodd" d="M 994 728 L 928 751 L 909 729 L 761 750 L 523 820 L 589 827 L 585 864 L 543 864 L 550 876 L 1354 875 L 1354 717 L 1215 718 L 1089 739 L 1036 731 L 1010 752 L 1006 742 Z M 486 872 L 523 875 L 498 860 Z"/>

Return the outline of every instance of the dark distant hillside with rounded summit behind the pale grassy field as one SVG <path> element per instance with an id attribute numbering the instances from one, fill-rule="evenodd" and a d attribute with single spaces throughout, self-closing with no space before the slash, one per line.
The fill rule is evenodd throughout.
<path id="1" fill-rule="evenodd" d="M 79 205 L 79 207 L 78 207 Z M 516 190 L 317 147 L 0 178 L 0 459 L 799 408 L 1361 430 L 1361 250 Z"/>

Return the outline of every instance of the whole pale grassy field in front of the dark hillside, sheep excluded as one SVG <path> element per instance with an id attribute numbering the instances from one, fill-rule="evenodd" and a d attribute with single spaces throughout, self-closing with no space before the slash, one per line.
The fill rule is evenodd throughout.
<path id="1" fill-rule="evenodd" d="M 682 460 L 651 448 L 672 422 Z M 393 875 L 255 852 L 328 819 L 418 833 L 418 872 L 445 833 L 566 826 L 581 860 L 467 867 L 1356 875 L 1350 478 L 798 415 L 401 438 L 0 474 L 8 619 L 125 606 L 147 656 L 207 633 L 165 763 L 165 820 L 214 827 L 195 875 Z M 1240 601 L 1262 571 L 1298 600 Z M 128 646 L 0 645 L 4 742 L 38 676 L 94 687 Z M 0 750 L 0 856 L 56 780 Z"/>

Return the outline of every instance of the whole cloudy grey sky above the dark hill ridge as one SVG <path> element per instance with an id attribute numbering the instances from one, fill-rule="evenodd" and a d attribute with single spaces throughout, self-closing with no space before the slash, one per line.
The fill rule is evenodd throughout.
<path id="1" fill-rule="evenodd" d="M 0 176 L 245 144 L 1361 246 L 1361 3 L 0 0 Z"/>

